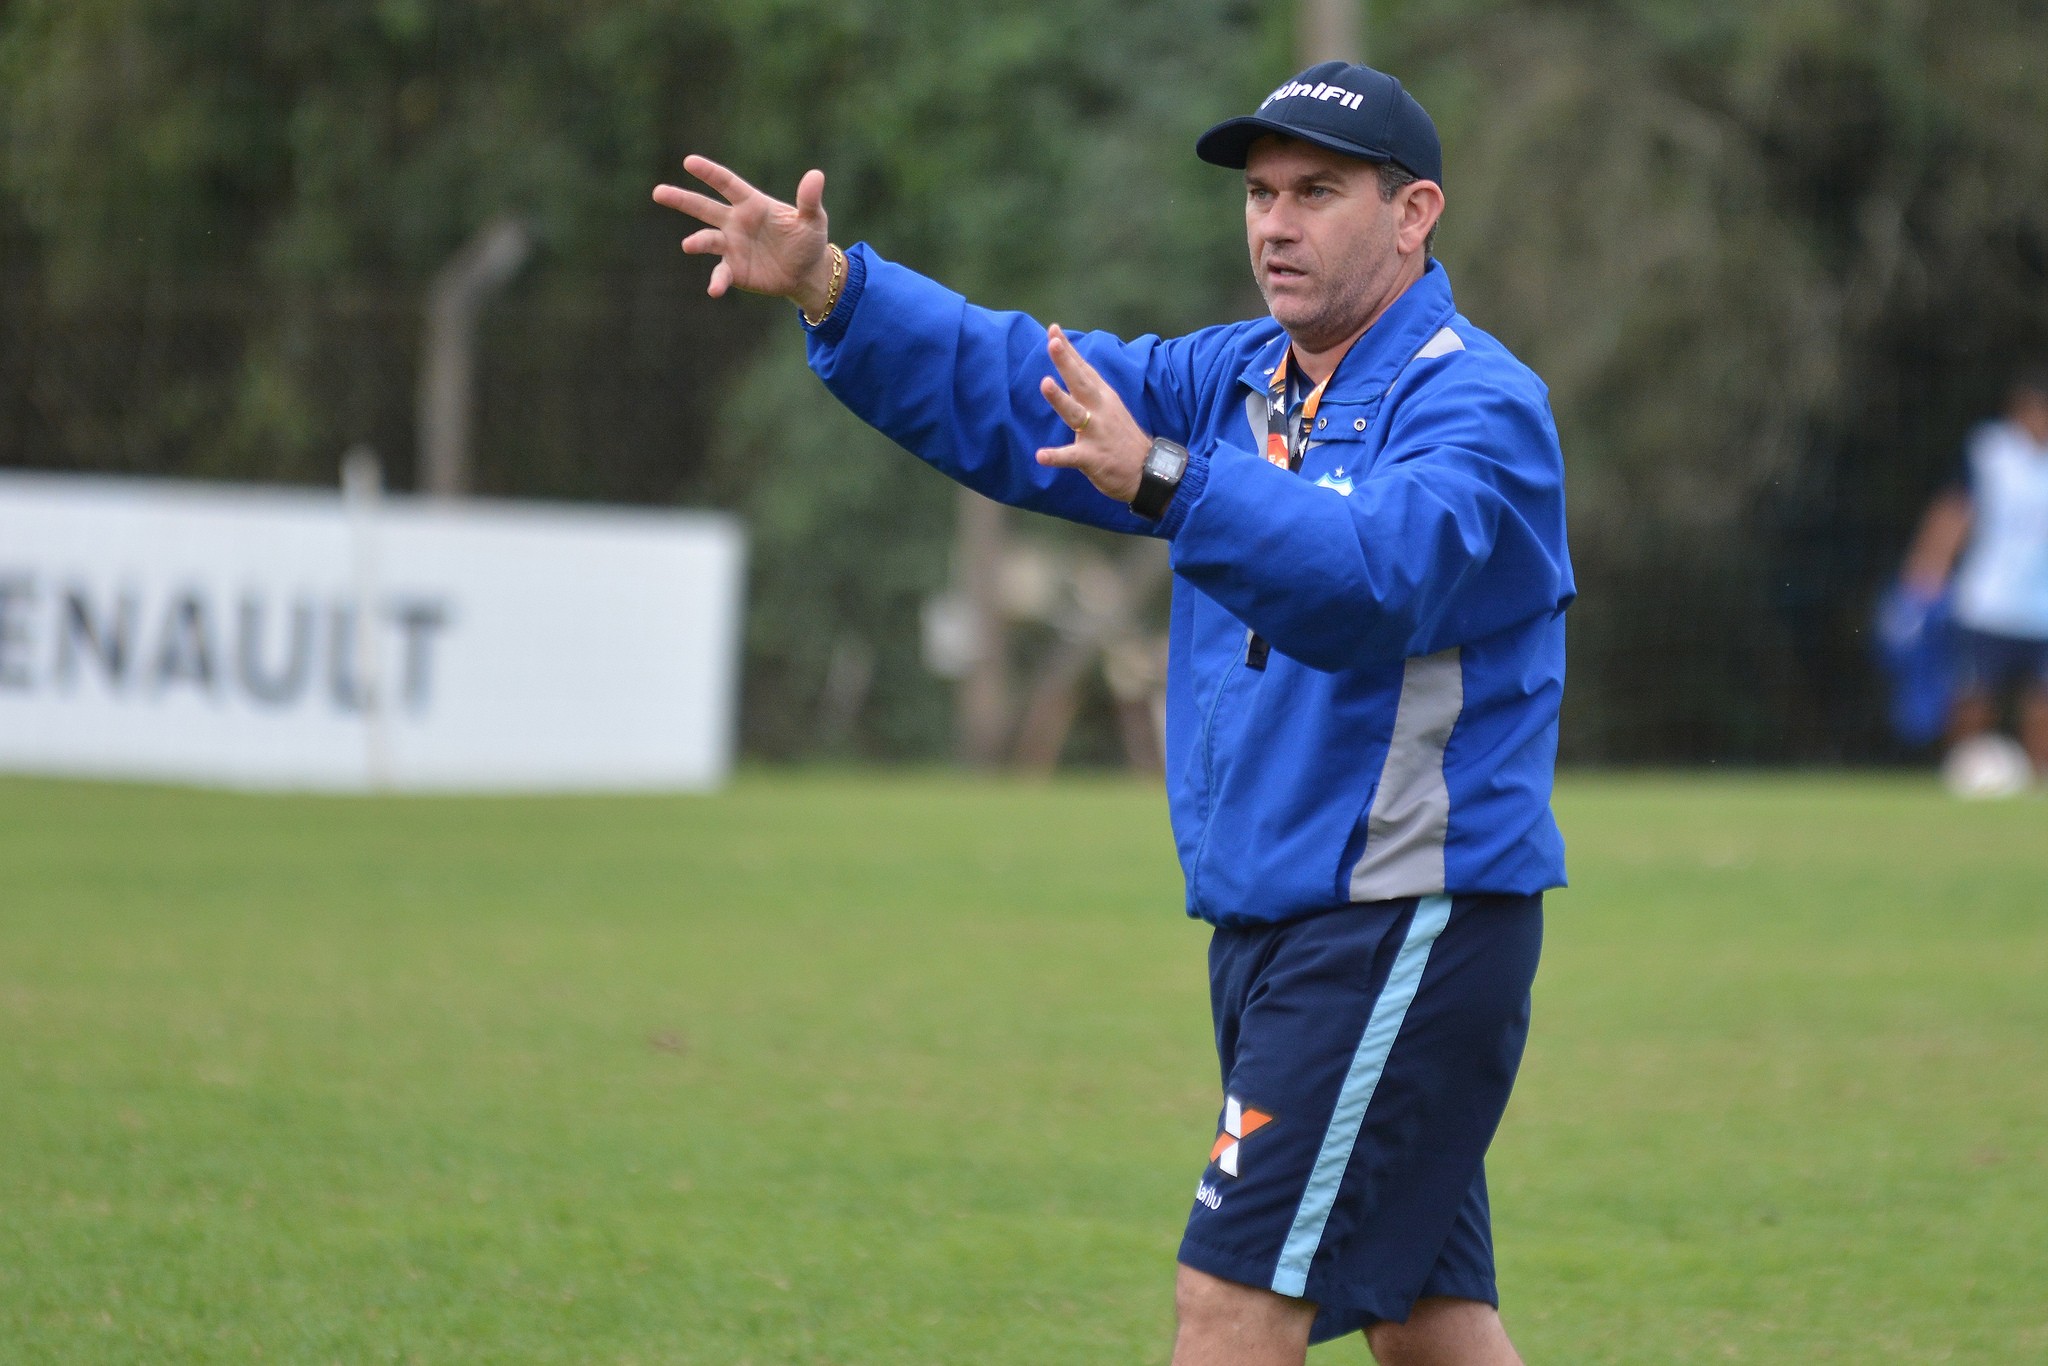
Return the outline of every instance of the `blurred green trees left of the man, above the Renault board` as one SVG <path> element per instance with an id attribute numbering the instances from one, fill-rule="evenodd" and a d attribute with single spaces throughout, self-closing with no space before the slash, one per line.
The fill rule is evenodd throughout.
<path id="1" fill-rule="evenodd" d="M 0 444 L 326 479 L 371 438 L 403 483 L 424 285 L 514 211 L 543 258 L 485 338 L 481 485 L 745 512 L 750 743 L 813 752 L 850 643 L 877 659 L 874 705 L 825 731 L 934 754 L 918 608 L 944 580 L 948 485 L 821 393 L 793 328 L 756 352 L 776 305 L 707 305 L 647 186 L 692 147 L 784 195 L 823 164 L 846 240 L 1042 317 L 1190 328 L 1255 295 L 1235 186 L 1188 145 L 1284 45 L 1223 0 L 973 23 L 932 0 L 23 0 L 0 12 L 0 340 L 37 401 L 0 401 Z M 47 344 L 109 317 L 143 340 L 111 342 L 117 322 L 84 356 Z"/>

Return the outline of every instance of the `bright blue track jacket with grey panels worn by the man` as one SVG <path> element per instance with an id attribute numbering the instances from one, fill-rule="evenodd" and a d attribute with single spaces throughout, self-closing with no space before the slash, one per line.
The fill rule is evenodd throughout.
<path id="1" fill-rule="evenodd" d="M 1458 315 L 1444 268 L 1352 346 L 1300 473 L 1262 455 L 1288 344 L 1274 319 L 1073 344 L 1141 430 L 1188 446 L 1157 524 L 1036 463 L 1071 436 L 1038 393 L 1044 328 L 1022 313 L 856 246 L 809 358 L 971 489 L 1171 543 L 1165 750 L 1188 913 L 1251 926 L 1563 885 L 1565 463 L 1542 381 Z"/>

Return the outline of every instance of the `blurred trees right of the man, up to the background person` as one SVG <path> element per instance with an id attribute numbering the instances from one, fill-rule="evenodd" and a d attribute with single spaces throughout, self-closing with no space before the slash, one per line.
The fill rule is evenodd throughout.
<path id="1" fill-rule="evenodd" d="M 1386 23 L 1391 20 L 1391 23 Z M 2048 342 L 2048 6 L 1384 6 L 1462 307 L 1571 463 L 1567 750 L 1880 752 L 1862 629 Z"/>

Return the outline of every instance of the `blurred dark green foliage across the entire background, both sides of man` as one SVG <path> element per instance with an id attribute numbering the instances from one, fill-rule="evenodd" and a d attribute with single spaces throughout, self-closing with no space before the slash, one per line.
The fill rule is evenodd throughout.
<path id="1" fill-rule="evenodd" d="M 2048 346 L 2048 6 L 1374 0 L 1446 141 L 1460 307 L 1550 383 L 1581 600 L 1571 762 L 1876 762 L 1868 614 Z M 0 465 L 416 475 L 422 311 L 500 215 L 481 494 L 741 512 L 745 748 L 954 745 L 922 610 L 950 485 L 842 414 L 786 309 L 702 297 L 684 152 L 981 303 L 1174 334 L 1260 309 L 1192 156 L 1296 66 L 1237 0 L 12 0 Z M 1057 555 L 1104 547 L 1032 524 Z M 1116 547 L 1110 547 L 1112 551 Z M 1153 604 L 1157 610 L 1157 604 Z M 1057 649 L 1020 629 L 1016 666 Z M 1122 754 L 1090 682 L 1069 762 Z"/>

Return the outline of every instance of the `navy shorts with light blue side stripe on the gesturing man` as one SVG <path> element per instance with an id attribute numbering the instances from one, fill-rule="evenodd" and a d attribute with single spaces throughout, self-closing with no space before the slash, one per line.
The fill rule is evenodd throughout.
<path id="1" fill-rule="evenodd" d="M 1311 1341 L 1423 1296 L 1499 1305 L 1481 1163 L 1540 948 L 1540 895 L 1217 930 L 1225 1102 L 1180 1262 L 1313 1300 Z"/>

